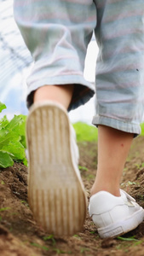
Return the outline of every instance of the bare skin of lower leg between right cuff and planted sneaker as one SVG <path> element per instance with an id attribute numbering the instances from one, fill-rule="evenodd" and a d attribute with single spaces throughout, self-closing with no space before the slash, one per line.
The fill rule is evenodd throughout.
<path id="1" fill-rule="evenodd" d="M 133 134 L 108 126 L 98 127 L 98 166 L 91 194 L 104 190 L 120 196 L 119 183 Z"/>

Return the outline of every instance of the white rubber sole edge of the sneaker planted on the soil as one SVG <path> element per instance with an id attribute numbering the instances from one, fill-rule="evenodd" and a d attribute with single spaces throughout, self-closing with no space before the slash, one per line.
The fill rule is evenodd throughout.
<path id="1" fill-rule="evenodd" d="M 109 225 L 105 228 L 98 229 L 98 233 L 101 238 L 116 237 L 124 235 L 125 233 L 135 230 L 135 228 L 141 224 L 144 219 L 144 210 L 141 208 L 135 212 L 129 218 L 122 220 L 116 224 Z"/>

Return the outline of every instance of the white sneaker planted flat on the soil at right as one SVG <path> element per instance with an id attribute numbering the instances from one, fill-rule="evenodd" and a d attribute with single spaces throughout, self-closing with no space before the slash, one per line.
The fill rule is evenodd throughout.
<path id="1" fill-rule="evenodd" d="M 92 195 L 89 215 L 101 238 L 119 236 L 134 230 L 144 219 L 144 210 L 133 197 L 120 189 L 121 196 L 106 191 Z"/>

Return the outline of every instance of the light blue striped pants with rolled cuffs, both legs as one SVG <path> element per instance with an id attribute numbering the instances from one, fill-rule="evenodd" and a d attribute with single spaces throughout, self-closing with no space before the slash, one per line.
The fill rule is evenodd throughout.
<path id="1" fill-rule="evenodd" d="M 140 134 L 144 0 L 14 0 L 14 18 L 34 59 L 28 106 L 40 86 L 75 84 L 69 110 L 96 90 L 93 124 Z M 93 31 L 99 46 L 95 88 L 83 74 Z"/>

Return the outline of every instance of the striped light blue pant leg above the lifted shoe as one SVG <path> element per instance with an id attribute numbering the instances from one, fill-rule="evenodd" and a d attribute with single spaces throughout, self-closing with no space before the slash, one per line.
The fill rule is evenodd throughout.
<path id="1" fill-rule="evenodd" d="M 14 19 L 34 59 L 27 79 L 28 106 L 33 91 L 45 84 L 76 84 L 69 109 L 87 102 L 95 93 L 84 79 L 86 49 L 96 26 L 95 3 L 14 0 Z"/>

